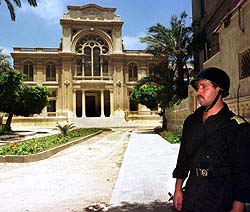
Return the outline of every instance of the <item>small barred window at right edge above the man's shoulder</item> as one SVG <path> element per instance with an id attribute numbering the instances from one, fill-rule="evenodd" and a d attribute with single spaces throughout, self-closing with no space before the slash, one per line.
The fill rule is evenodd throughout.
<path id="1" fill-rule="evenodd" d="M 250 76 L 250 49 L 240 54 L 240 79 Z"/>

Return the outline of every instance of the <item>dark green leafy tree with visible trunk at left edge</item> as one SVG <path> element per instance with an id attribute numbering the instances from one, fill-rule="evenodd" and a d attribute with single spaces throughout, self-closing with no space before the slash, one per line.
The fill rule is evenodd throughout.
<path id="1" fill-rule="evenodd" d="M 5 129 L 10 131 L 13 115 L 41 113 L 48 105 L 49 91 L 46 87 L 24 84 L 23 75 L 15 72 L 5 60 L 6 56 L 0 52 L 0 111 L 9 114 Z"/>

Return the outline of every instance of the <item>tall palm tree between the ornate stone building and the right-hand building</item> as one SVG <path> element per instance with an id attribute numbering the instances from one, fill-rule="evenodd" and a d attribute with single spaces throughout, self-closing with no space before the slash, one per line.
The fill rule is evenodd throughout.
<path id="1" fill-rule="evenodd" d="M 172 16 L 169 29 L 158 23 L 149 28 L 146 37 L 141 38 L 141 42 L 147 44 L 146 52 L 160 57 L 160 60 L 166 64 L 165 71 L 159 70 L 158 74 L 160 75 L 156 77 L 159 79 L 167 75 L 165 82 L 170 83 L 170 85 L 164 83 L 167 87 L 166 91 L 170 92 L 169 97 L 172 97 L 172 99 L 167 98 L 170 102 L 166 103 L 166 105 L 175 103 L 188 95 L 187 87 L 189 82 L 185 81 L 184 77 L 188 76 L 188 73 L 185 72 L 187 70 L 186 64 L 192 56 L 190 49 L 192 32 L 191 27 L 185 25 L 186 18 L 187 14 L 185 12 L 182 12 L 179 18 Z M 158 68 L 162 69 L 163 66 L 160 65 Z M 152 81 L 151 78 L 146 78 L 144 81 Z M 166 95 L 168 94 L 166 93 Z M 165 102 L 165 100 L 162 99 L 162 102 Z"/>

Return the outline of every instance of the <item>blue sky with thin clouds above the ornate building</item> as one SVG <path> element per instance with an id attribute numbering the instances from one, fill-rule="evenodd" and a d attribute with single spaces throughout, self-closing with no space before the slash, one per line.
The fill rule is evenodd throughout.
<path id="1" fill-rule="evenodd" d="M 62 36 L 60 18 L 69 5 L 116 8 L 115 14 L 124 22 L 122 36 L 127 50 L 144 49 L 146 46 L 139 38 L 157 23 L 168 28 L 173 15 L 186 11 L 187 25 L 192 22 L 192 0 L 37 0 L 37 3 L 34 8 L 22 0 L 22 8 L 15 6 L 16 21 L 11 21 L 5 2 L 1 2 L 0 49 L 4 54 L 12 52 L 13 47 L 58 48 Z"/>

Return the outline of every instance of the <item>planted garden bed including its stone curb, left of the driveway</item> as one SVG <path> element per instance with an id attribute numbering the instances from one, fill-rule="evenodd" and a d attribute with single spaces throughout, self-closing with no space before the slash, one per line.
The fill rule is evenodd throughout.
<path id="1" fill-rule="evenodd" d="M 0 162 L 25 163 L 43 160 L 101 132 L 101 129 L 78 129 L 72 130 L 68 136 L 58 134 L 5 144 L 0 147 Z"/>

